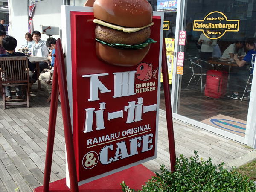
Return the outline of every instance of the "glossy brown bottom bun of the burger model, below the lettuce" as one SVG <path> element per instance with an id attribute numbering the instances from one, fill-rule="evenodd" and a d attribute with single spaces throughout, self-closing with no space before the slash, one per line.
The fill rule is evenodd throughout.
<path id="1" fill-rule="evenodd" d="M 96 42 L 97 57 L 108 64 L 118 66 L 134 66 L 148 54 L 150 44 L 143 49 L 116 49 Z"/>

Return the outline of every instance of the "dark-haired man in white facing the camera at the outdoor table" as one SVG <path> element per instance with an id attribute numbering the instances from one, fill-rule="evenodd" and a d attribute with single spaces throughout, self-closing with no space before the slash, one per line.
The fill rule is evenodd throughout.
<path id="1" fill-rule="evenodd" d="M 46 46 L 46 42 L 41 40 L 41 33 L 39 31 L 32 32 L 32 38 L 35 43 L 31 47 L 31 55 L 36 57 L 47 57 L 49 54 L 48 48 Z M 48 64 L 46 62 L 39 63 L 39 72 L 35 70 L 30 82 L 30 86 L 37 80 L 37 73 L 41 73 L 43 69 L 47 68 Z"/>

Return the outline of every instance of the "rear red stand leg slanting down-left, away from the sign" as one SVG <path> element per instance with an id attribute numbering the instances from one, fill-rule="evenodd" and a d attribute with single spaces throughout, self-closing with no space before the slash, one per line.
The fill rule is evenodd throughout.
<path id="1" fill-rule="evenodd" d="M 52 153 L 55 137 L 55 126 L 58 110 L 58 75 L 57 68 L 53 74 L 52 82 L 52 95 L 51 95 L 51 105 L 50 105 L 50 114 L 49 114 L 49 127 L 48 127 L 48 137 L 47 137 L 47 148 L 46 148 L 46 157 L 45 157 L 45 167 L 44 167 L 44 192 L 49 191 L 49 183 L 51 177 L 51 168 L 52 168 Z"/>

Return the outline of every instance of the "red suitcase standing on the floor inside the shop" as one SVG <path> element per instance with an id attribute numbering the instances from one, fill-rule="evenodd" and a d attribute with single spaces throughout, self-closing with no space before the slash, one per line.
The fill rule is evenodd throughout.
<path id="1" fill-rule="evenodd" d="M 227 76 L 228 73 L 226 71 L 208 70 L 204 95 L 215 99 L 225 96 L 227 92 Z"/>

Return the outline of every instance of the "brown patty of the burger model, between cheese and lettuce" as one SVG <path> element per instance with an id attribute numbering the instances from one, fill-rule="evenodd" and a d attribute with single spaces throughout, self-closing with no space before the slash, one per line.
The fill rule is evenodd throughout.
<path id="1" fill-rule="evenodd" d="M 150 28 L 147 27 L 137 32 L 127 33 L 97 25 L 95 28 L 95 36 L 96 39 L 105 41 L 109 44 L 138 45 L 147 41 L 150 36 Z"/>

